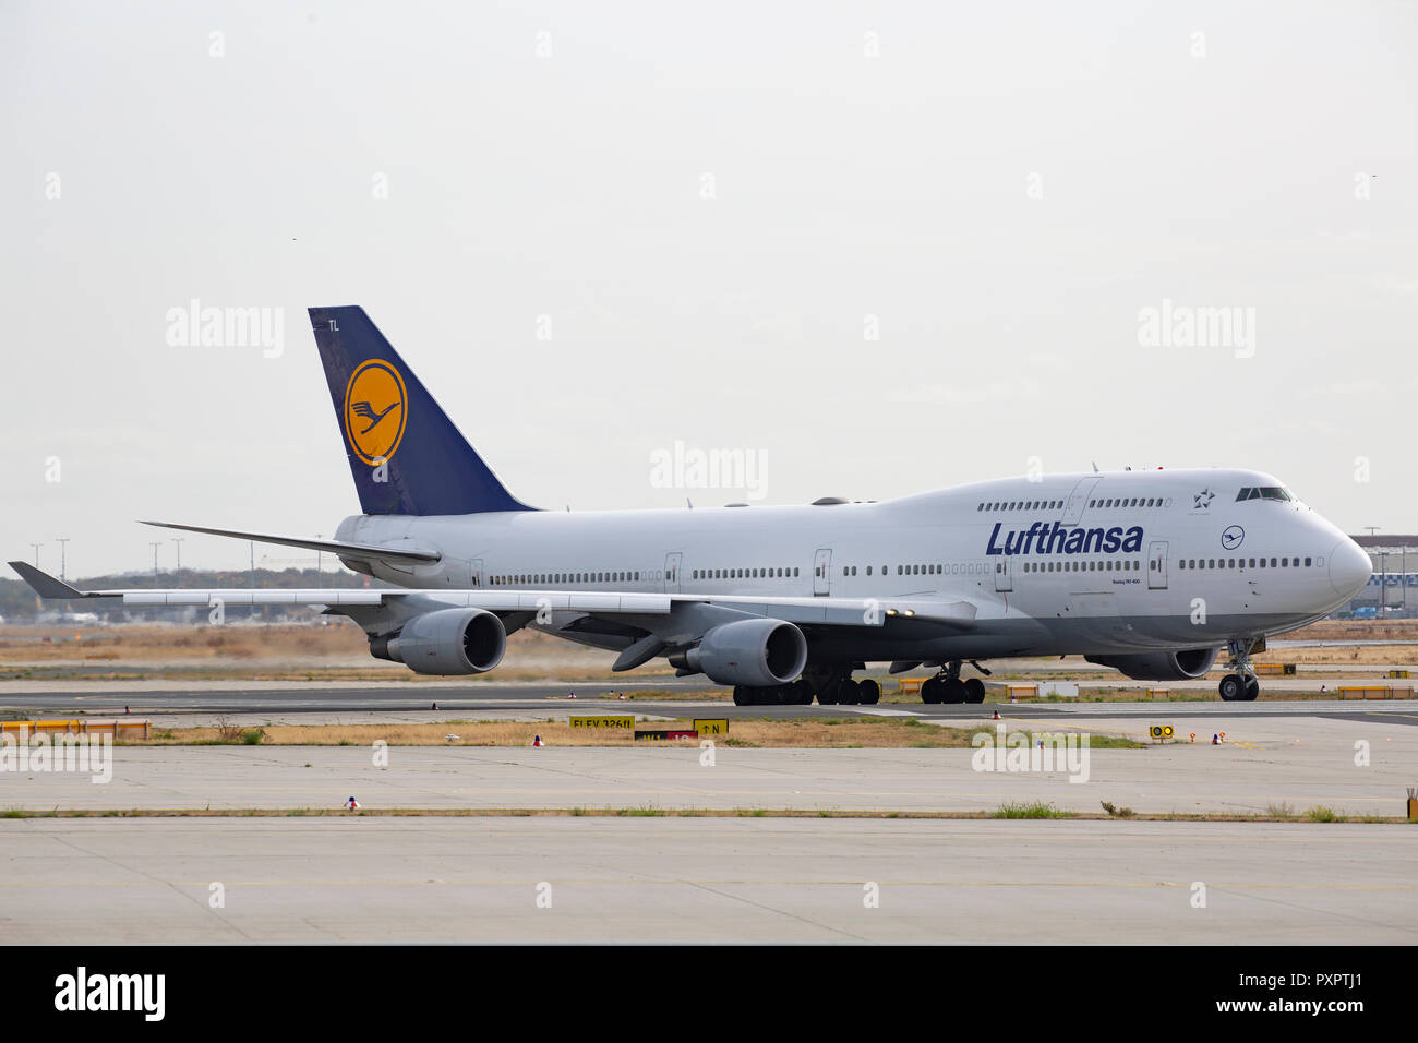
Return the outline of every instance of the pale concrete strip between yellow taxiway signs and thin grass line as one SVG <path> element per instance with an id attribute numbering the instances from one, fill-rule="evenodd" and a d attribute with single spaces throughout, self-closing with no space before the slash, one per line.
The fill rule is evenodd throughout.
<path id="1" fill-rule="evenodd" d="M 1085 731 L 1116 725 L 1079 718 Z M 981 722 L 1029 731 L 1024 719 Z M 794 809 L 994 812 L 1048 803 L 1100 813 L 1337 813 L 1401 816 L 1418 731 L 1378 721 L 1252 718 L 1227 742 L 1089 749 L 1079 769 L 978 771 L 974 749 L 659 746 L 116 746 L 112 780 L 77 772 L 0 772 L 0 807 L 325 809 L 356 796 L 389 809 Z M 732 724 L 730 724 L 732 738 Z M 1368 763 L 1356 763 L 1363 744 Z M 1071 782 L 1071 779 L 1078 779 Z M 1418 833 L 1415 833 L 1418 836 Z"/>

